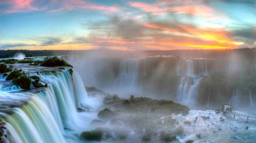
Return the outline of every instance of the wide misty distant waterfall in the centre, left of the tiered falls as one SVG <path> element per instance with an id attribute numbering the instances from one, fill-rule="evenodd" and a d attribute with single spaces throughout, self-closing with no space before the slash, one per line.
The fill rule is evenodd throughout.
<path id="1" fill-rule="evenodd" d="M 123 59 L 119 68 L 117 82 L 120 88 L 138 88 L 140 59 Z"/>

